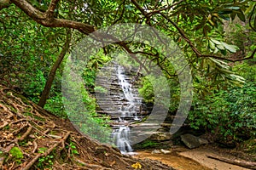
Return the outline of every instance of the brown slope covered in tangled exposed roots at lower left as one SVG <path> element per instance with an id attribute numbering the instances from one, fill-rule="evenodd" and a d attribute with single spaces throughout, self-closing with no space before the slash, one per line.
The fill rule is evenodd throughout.
<path id="1" fill-rule="evenodd" d="M 124 156 L 2 85 L 0 117 L 0 169 L 173 169 Z"/>

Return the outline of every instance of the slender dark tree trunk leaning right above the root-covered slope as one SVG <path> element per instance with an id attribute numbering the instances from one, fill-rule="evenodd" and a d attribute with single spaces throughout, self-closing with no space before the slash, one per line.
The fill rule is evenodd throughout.
<path id="1" fill-rule="evenodd" d="M 69 48 L 70 41 L 71 41 L 71 30 L 68 29 L 66 42 L 61 50 L 61 54 L 59 54 L 58 58 L 55 61 L 55 64 L 51 67 L 51 70 L 49 71 L 49 76 L 48 76 L 47 82 L 45 83 L 44 91 L 43 91 L 43 93 L 40 97 L 40 100 L 38 102 L 38 105 L 40 105 L 43 108 L 46 103 L 46 99 L 49 96 L 49 90 L 50 90 L 52 82 L 55 78 L 56 71 L 60 67 L 62 60 L 64 59 L 65 55 L 67 54 L 67 50 Z"/>

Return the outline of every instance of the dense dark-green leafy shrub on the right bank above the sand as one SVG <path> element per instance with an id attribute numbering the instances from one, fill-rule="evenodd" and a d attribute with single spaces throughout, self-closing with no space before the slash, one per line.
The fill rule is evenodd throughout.
<path id="1" fill-rule="evenodd" d="M 225 143 L 256 137 L 256 83 L 242 88 L 220 90 L 204 99 L 195 99 L 189 112 L 190 126 L 204 128 Z"/>

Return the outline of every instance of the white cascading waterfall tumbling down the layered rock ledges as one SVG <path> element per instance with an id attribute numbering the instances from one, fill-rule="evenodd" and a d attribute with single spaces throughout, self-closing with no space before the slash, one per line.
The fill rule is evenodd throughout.
<path id="1" fill-rule="evenodd" d="M 137 99 L 132 92 L 131 83 L 127 81 L 124 74 L 124 69 L 118 65 L 117 66 L 117 77 L 119 81 L 119 86 L 122 88 L 125 100 L 124 104 L 119 108 L 119 128 L 113 130 L 113 140 L 122 153 L 131 152 L 131 143 L 129 139 L 130 127 L 128 127 L 127 122 L 134 122 L 140 120 L 137 116 L 137 111 L 141 106 L 141 99 Z M 129 121 L 125 121 L 128 119 Z M 129 124 L 129 123 L 128 123 Z"/>

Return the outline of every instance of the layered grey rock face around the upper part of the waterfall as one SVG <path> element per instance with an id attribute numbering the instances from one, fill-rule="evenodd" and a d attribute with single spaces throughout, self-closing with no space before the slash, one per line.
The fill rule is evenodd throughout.
<path id="1" fill-rule="evenodd" d="M 149 114 L 150 112 L 144 107 L 145 105 L 142 105 L 143 99 L 137 91 L 136 71 L 123 67 L 120 73 L 118 73 L 119 65 L 112 62 L 103 67 L 98 74 L 96 86 L 106 89 L 107 92 L 96 93 L 97 103 L 100 106 L 97 108 L 97 112 L 108 114 L 113 120 L 118 120 L 120 117 L 128 121 L 132 119 L 132 116 L 141 117 L 142 115 Z M 126 86 L 120 86 L 120 81 Z M 129 89 L 127 88 L 128 83 L 131 85 Z M 124 91 L 127 91 L 127 93 L 124 93 Z"/>

